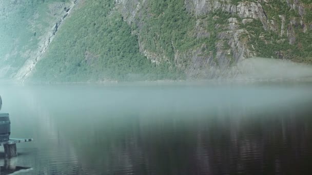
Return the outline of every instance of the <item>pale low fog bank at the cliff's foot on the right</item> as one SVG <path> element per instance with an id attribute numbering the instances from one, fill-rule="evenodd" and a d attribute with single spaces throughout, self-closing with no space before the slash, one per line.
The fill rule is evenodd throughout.
<path id="1" fill-rule="evenodd" d="M 312 80 L 312 66 L 273 58 L 248 58 L 233 67 L 238 80 Z"/>

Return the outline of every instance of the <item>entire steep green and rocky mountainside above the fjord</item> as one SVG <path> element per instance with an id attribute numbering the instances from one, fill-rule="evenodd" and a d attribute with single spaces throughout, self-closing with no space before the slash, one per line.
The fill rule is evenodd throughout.
<path id="1" fill-rule="evenodd" d="M 311 0 L 0 0 L 0 76 L 236 76 L 250 57 L 312 63 Z"/>

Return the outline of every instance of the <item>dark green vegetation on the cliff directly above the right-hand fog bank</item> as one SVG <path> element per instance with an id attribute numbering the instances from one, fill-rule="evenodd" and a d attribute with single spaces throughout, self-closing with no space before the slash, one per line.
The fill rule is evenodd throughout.
<path id="1" fill-rule="evenodd" d="M 301 2 L 304 3 L 304 6 L 312 7 L 312 1 Z M 300 24 L 300 20 L 303 20 L 305 24 L 312 24 L 311 10 L 305 10 L 305 14 L 301 17 L 298 10 L 291 9 L 286 4 L 286 1 L 271 1 L 269 5 L 262 3 L 262 6 L 268 21 L 274 20 L 279 28 L 277 31 L 265 31 L 259 20 L 255 20 L 246 26 L 247 30 L 252 33 L 249 44 L 257 48 L 258 56 L 312 63 L 312 30 L 308 29 L 304 32 L 304 25 Z M 283 35 L 280 28 L 282 19 L 279 15 L 285 17 L 285 31 Z M 291 20 L 295 24 L 290 25 Z M 295 40 L 294 43 L 289 42 L 287 29 L 289 30 L 288 32 L 291 32 L 291 29 L 294 30 L 292 36 Z"/>

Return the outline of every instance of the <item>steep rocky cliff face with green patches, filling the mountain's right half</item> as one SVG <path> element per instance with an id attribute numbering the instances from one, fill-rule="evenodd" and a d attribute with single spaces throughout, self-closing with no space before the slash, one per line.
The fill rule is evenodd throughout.
<path id="1" fill-rule="evenodd" d="M 138 26 L 133 33 L 141 38 L 140 51 L 153 62 L 170 62 L 191 78 L 235 76 L 228 68 L 248 57 L 312 60 L 310 1 L 115 2 L 125 21 Z M 168 21 L 173 25 L 169 33 L 162 31 Z M 159 44 L 162 40 L 167 43 Z M 181 40 L 196 43 L 180 47 Z"/>

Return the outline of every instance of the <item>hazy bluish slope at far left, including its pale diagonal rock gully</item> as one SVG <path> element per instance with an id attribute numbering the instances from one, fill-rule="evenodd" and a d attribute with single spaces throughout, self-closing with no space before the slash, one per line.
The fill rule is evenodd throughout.
<path id="1" fill-rule="evenodd" d="M 53 40 L 73 2 L 0 1 L 0 77 L 27 76 Z"/>

